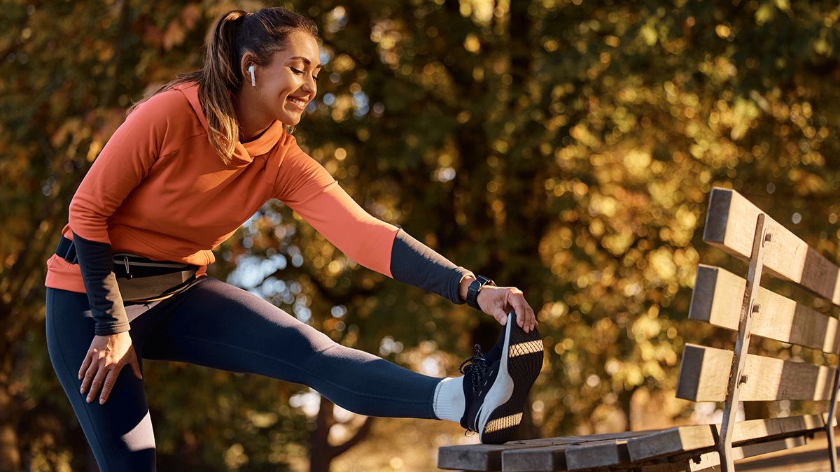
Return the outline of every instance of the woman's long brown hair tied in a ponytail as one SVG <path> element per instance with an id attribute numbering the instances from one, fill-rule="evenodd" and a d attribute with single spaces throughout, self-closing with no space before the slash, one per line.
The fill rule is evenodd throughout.
<path id="1" fill-rule="evenodd" d="M 186 82 L 198 82 L 198 101 L 207 117 L 208 138 L 225 164 L 229 164 L 239 142 L 239 121 L 234 110 L 234 96 L 242 87 L 239 63 L 246 52 L 255 55 L 255 63 L 268 64 L 271 55 L 286 48 L 286 39 L 294 31 L 318 37 L 318 26 L 300 13 L 282 7 L 262 8 L 255 13 L 232 10 L 216 19 L 205 41 L 204 66 L 197 71 L 179 74 L 175 79 L 147 93 L 140 103 L 160 92 Z"/>

